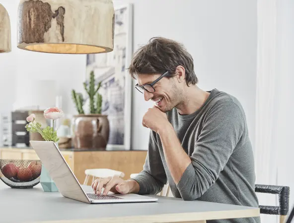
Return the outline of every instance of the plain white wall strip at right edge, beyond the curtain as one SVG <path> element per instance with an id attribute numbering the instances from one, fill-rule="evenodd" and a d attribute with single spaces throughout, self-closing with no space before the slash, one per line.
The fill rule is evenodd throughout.
<path id="1" fill-rule="evenodd" d="M 278 102 L 276 146 L 278 151 L 277 184 L 290 186 L 290 208 L 294 206 L 294 1 L 277 3 L 277 75 Z M 291 211 L 290 209 L 290 211 Z"/>

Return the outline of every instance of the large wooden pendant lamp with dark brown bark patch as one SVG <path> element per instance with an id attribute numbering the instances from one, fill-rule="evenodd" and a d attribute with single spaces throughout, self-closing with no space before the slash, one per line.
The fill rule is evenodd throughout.
<path id="1" fill-rule="evenodd" d="M 113 51 L 112 0 L 20 0 L 17 47 L 55 54 Z"/>

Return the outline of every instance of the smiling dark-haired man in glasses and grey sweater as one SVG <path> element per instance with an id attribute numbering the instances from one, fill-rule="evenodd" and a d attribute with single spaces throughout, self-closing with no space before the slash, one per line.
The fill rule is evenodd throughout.
<path id="1" fill-rule="evenodd" d="M 152 38 L 136 52 L 129 72 L 138 78 L 136 88 L 145 100 L 155 103 L 142 121 L 150 129 L 146 163 L 134 179 L 97 179 L 94 191 L 157 194 L 168 182 L 172 194 L 184 200 L 258 207 L 253 152 L 239 101 L 218 89 L 201 90 L 192 56 L 169 39 Z"/>

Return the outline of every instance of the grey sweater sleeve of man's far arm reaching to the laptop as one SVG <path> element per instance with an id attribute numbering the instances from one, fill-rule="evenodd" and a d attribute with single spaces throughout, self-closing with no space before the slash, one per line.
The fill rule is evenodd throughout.
<path id="1" fill-rule="evenodd" d="M 150 131 L 147 157 L 143 170 L 134 178 L 139 185 L 138 194 L 157 194 L 167 182 L 165 170 L 159 154 L 155 133 Z"/>

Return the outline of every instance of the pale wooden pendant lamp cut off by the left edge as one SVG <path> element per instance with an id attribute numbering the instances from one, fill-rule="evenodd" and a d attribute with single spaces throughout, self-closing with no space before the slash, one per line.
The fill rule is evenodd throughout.
<path id="1" fill-rule="evenodd" d="M 11 52 L 10 19 L 7 10 L 0 4 L 0 53 Z"/>

